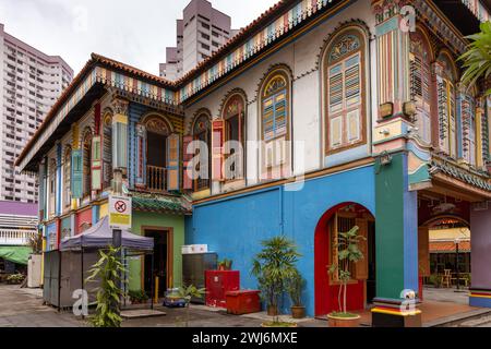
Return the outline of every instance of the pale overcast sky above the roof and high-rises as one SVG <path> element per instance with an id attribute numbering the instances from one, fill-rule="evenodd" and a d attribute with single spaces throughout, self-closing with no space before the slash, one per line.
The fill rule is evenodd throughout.
<path id="1" fill-rule="evenodd" d="M 167 46 L 176 45 L 176 20 L 190 0 L 0 0 L 7 33 L 61 56 L 75 71 L 97 52 L 158 74 Z M 211 0 L 232 19 L 252 22 L 277 0 Z"/>

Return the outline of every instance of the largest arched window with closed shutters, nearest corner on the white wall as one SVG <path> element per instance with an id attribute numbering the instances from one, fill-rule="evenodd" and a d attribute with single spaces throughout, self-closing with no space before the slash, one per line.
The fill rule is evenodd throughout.
<path id="1" fill-rule="evenodd" d="M 326 154 L 366 142 L 366 38 L 357 28 L 336 36 L 324 56 Z"/>

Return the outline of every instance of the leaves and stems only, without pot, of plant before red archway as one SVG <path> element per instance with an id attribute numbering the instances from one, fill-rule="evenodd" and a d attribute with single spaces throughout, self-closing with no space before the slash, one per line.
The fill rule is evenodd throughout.
<path id="1" fill-rule="evenodd" d="M 351 263 L 357 263 L 363 260 L 363 253 L 360 251 L 359 243 L 361 240 L 366 240 L 364 237 L 358 234 L 360 228 L 355 226 L 347 232 L 339 232 L 337 236 L 337 250 L 338 263 L 333 263 L 328 269 L 330 274 L 338 273 L 339 292 L 337 296 L 337 302 L 339 305 L 339 313 L 344 315 L 350 315 L 346 309 L 346 293 L 348 289 L 348 282 L 351 279 L 351 272 L 349 266 Z M 343 302 L 342 302 L 343 294 Z"/>

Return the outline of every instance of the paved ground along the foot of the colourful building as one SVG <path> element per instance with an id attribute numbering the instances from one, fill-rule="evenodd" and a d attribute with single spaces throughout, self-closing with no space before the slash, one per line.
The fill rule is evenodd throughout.
<path id="1" fill-rule="evenodd" d="M 58 312 L 53 308 L 43 305 L 40 289 L 21 289 L 19 286 L 0 285 L 0 327 L 80 327 L 87 326 L 85 321 L 76 318 L 71 312 Z M 453 290 L 426 290 L 423 302 L 423 322 L 431 321 L 433 315 L 443 320 L 457 317 L 472 311 L 469 308 L 466 293 Z M 166 312 L 164 316 L 124 320 L 123 327 L 176 327 L 184 326 L 187 311 L 183 309 L 167 309 L 156 306 Z M 361 312 L 362 325 L 370 326 L 369 312 Z M 189 326 L 191 327 L 259 327 L 268 317 L 264 313 L 251 315 L 229 315 L 225 311 L 211 311 L 202 305 L 193 305 L 189 310 Z M 290 318 L 285 318 L 291 321 Z M 321 320 L 302 320 L 299 327 L 326 327 Z M 460 321 L 458 327 L 491 327 L 491 314 L 474 316 L 468 321 Z"/>

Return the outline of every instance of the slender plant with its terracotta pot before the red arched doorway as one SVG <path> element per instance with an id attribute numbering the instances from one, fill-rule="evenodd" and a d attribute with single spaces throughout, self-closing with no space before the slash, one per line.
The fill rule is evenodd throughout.
<path id="1" fill-rule="evenodd" d="M 347 311 L 346 293 L 348 282 L 351 280 L 349 270 L 351 263 L 363 260 L 363 253 L 360 251 L 359 243 L 366 240 L 358 234 L 359 227 L 355 226 L 347 232 L 339 232 L 337 237 L 338 262 L 333 263 L 328 269 L 330 274 L 338 273 L 340 281 L 339 293 L 337 297 L 339 311 L 327 315 L 330 327 L 357 327 L 360 324 L 360 315 Z"/>

